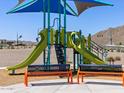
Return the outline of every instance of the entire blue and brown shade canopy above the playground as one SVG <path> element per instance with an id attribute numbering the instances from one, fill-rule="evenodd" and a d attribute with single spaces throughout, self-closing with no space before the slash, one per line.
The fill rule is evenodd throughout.
<path id="1" fill-rule="evenodd" d="M 45 1 L 45 3 L 43 1 Z M 50 0 L 50 12 L 63 14 L 64 7 L 61 4 L 59 4 L 58 1 L 59 0 Z M 74 1 L 75 2 L 75 6 L 77 8 L 78 15 L 80 15 L 86 9 L 91 8 L 91 7 L 112 6 L 112 4 L 101 2 L 98 0 L 66 0 L 66 1 Z M 47 12 L 48 0 L 19 0 L 18 5 L 15 8 L 13 8 L 11 11 L 9 11 L 8 13 L 42 12 L 42 11 L 44 11 L 44 7 Z M 70 13 L 68 10 L 66 10 L 66 14 L 67 15 L 77 15 L 74 13 L 73 9 L 71 9 L 71 11 L 73 13 Z"/>

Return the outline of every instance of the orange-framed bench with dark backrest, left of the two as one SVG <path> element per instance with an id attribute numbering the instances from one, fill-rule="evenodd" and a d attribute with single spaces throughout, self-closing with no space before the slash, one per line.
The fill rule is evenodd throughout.
<path id="1" fill-rule="evenodd" d="M 24 73 L 24 84 L 28 86 L 28 77 L 33 76 L 66 76 L 72 83 L 72 71 L 69 64 L 29 65 Z"/>

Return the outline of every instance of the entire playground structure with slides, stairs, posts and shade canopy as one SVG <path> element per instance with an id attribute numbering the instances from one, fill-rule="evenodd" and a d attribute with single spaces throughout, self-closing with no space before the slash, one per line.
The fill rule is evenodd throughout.
<path id="1" fill-rule="evenodd" d="M 66 1 L 74 1 L 78 13 Z M 63 5 L 62 2 L 64 3 Z M 44 65 L 50 65 L 50 49 L 52 45 L 55 46 L 58 64 L 66 64 L 66 48 L 74 49 L 74 70 L 77 68 L 75 60 L 77 60 L 77 64 L 90 64 L 92 62 L 95 64 L 106 64 L 105 60 L 103 60 L 106 52 L 99 45 L 91 41 L 91 35 L 86 39 L 81 32 L 67 32 L 66 29 L 66 15 L 78 16 L 87 8 L 95 6 L 112 5 L 98 0 L 54 0 L 54 2 L 53 0 L 19 0 L 18 5 L 8 13 L 42 11 L 44 25 L 43 30 L 39 33 L 41 40 L 33 52 L 22 63 L 7 67 L 7 69 L 14 71 L 27 67 L 35 62 L 42 52 L 44 53 Z M 67 8 L 69 8 L 69 11 Z M 51 28 L 51 13 L 58 13 L 59 26 L 57 30 Z M 62 14 L 64 14 L 63 27 L 61 22 Z M 101 54 L 101 57 L 99 54 Z"/>

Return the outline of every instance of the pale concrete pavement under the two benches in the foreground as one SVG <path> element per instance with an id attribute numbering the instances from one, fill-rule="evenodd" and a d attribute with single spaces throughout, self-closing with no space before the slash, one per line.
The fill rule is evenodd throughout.
<path id="1" fill-rule="evenodd" d="M 74 80 L 76 82 L 76 79 Z M 85 79 L 81 84 L 67 84 L 66 79 L 41 80 L 31 82 L 29 87 L 23 83 L 0 87 L 0 93 L 124 93 L 120 81 Z"/>

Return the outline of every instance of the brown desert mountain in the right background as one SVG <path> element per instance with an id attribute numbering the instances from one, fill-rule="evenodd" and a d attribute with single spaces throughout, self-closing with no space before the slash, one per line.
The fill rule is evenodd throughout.
<path id="1" fill-rule="evenodd" d="M 108 44 L 124 45 L 124 26 L 100 31 L 92 35 L 92 40 L 102 46 Z"/>

